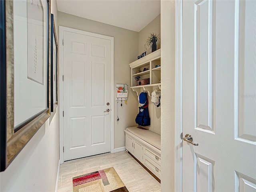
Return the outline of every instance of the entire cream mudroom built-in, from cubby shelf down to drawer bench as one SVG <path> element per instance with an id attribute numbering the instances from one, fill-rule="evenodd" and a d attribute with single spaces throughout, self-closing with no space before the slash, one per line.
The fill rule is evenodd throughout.
<path id="1" fill-rule="evenodd" d="M 138 128 L 128 127 L 125 132 L 125 148 L 146 170 L 160 182 L 161 179 L 161 49 L 156 50 L 132 63 L 131 89 L 138 96 L 146 93 L 150 125 Z M 157 102 L 158 101 L 158 102 Z M 138 112 L 143 110 L 138 108 Z M 136 117 L 136 114 L 134 114 Z M 135 120 L 136 121 L 136 120 Z M 136 122 L 139 124 L 138 122 Z"/>

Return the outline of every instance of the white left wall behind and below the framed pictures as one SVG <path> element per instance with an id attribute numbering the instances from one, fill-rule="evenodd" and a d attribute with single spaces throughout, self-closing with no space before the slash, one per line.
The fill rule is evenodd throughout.
<path id="1" fill-rule="evenodd" d="M 52 0 L 52 12 L 57 12 Z M 55 22 L 57 20 L 57 14 Z M 59 162 L 59 111 L 36 132 L 8 168 L 0 173 L 1 192 L 55 191 Z"/>

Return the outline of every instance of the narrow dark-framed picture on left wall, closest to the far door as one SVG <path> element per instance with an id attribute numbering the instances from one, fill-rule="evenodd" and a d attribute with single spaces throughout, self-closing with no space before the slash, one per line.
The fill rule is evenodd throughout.
<path id="1" fill-rule="evenodd" d="M 58 106 L 58 41 L 54 23 L 54 15 L 51 14 L 51 112 Z"/>

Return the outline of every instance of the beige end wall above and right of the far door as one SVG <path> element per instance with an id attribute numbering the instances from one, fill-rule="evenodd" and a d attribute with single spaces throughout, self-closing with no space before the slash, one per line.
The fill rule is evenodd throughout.
<path id="1" fill-rule="evenodd" d="M 93 32 L 114 37 L 114 84 L 127 83 L 130 85 L 129 63 L 137 59 L 138 56 L 138 32 L 126 30 L 116 26 L 103 24 L 93 20 L 77 17 L 74 15 L 58 12 L 58 24 L 69 28 Z M 116 121 L 116 102 L 112 104 L 114 108 L 114 148 L 124 147 L 124 130 L 129 126 L 134 126 L 137 110 L 137 96 L 129 90 L 128 103 L 120 107 L 119 118 Z"/>

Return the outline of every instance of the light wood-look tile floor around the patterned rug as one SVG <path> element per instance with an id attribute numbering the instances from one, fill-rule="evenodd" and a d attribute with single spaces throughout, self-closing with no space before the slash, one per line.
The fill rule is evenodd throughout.
<path id="1" fill-rule="evenodd" d="M 160 192 L 160 183 L 128 153 L 108 153 L 60 165 L 58 192 L 72 192 L 72 178 L 82 174 L 114 167 L 129 192 Z"/>

